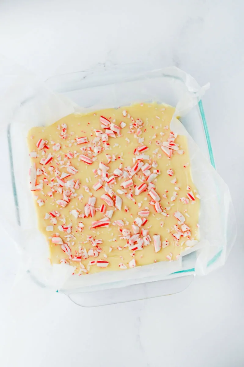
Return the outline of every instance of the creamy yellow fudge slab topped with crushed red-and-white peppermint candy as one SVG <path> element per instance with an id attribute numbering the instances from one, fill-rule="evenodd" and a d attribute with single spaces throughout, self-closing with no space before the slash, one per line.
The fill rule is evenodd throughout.
<path id="1" fill-rule="evenodd" d="M 200 197 L 175 109 L 140 103 L 29 131 L 30 188 L 52 264 L 84 275 L 174 261 L 199 240 Z"/>

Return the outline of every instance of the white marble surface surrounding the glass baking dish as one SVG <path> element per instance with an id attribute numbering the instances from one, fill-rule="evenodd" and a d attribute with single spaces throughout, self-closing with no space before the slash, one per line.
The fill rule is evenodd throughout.
<path id="1" fill-rule="evenodd" d="M 244 365 L 243 11 L 241 0 L 0 2 L 1 54 L 40 80 L 97 63 L 150 61 L 209 81 L 204 109 L 239 230 L 226 265 L 184 292 L 87 309 L 28 279 L 12 288 L 18 256 L 3 233 L 1 366 Z"/>

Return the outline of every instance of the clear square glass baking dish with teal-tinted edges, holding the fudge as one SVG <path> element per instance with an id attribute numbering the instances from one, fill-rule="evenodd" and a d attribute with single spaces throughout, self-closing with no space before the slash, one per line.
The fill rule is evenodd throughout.
<path id="1" fill-rule="evenodd" d="M 185 117 L 180 118 L 180 121 L 197 143 L 206 159 L 215 167 L 201 95 L 199 94 L 200 87 L 193 78 L 179 69 L 150 70 L 150 66 L 144 63 L 118 65 L 110 68 L 99 67 L 84 72 L 51 77 L 45 82 L 46 87 L 49 93 L 52 94 L 51 91 L 53 91 L 64 103 L 66 98 L 73 101 L 74 109 L 75 105 L 77 105 L 90 110 L 105 107 L 116 108 L 135 102 L 150 101 L 176 106 L 178 101 L 185 94 L 189 93 L 191 96 L 195 96 L 195 103 L 189 113 Z M 26 141 L 20 138 L 20 136 L 26 138 L 29 128 L 37 124 L 37 122 L 25 124 L 26 106 L 28 106 L 28 113 L 33 113 L 33 116 L 36 114 L 35 108 L 30 108 L 30 106 L 35 105 L 36 93 L 37 91 L 32 88 L 26 92 L 25 98 L 18 106 L 18 118 L 13 116 L 7 129 L 16 222 L 19 228 L 21 228 L 21 231 L 16 236 L 18 237 L 17 241 L 22 244 L 23 255 L 25 255 L 25 252 L 29 255 L 26 270 L 32 279 L 44 287 L 55 287 L 57 283 L 60 284 L 58 291 L 67 294 L 72 301 L 82 306 L 127 302 L 135 299 L 173 294 L 184 290 L 195 275 L 195 268 L 192 264 L 196 261 L 196 251 L 183 256 L 180 269 L 176 268 L 176 271 L 167 275 L 167 279 L 165 274 L 160 275 L 160 273 L 157 273 L 156 275 L 151 275 L 148 272 L 146 277 L 133 278 L 132 276 L 107 283 L 103 282 L 103 284 L 91 283 L 89 285 L 82 284 L 81 286 L 79 280 L 65 282 L 63 273 L 57 282 L 59 271 L 55 272 L 55 279 L 53 279 L 53 275 L 50 275 L 51 273 L 43 272 L 42 263 L 38 261 L 38 257 L 45 255 L 48 257 L 48 249 L 44 245 L 45 240 L 43 236 L 36 230 L 37 219 L 26 175 L 27 167 L 30 164 L 29 152 Z M 38 90 L 38 93 L 38 103 L 40 104 L 42 88 Z M 45 98 L 41 100 L 41 103 L 45 104 Z M 59 103 L 60 101 L 57 100 L 57 110 L 59 109 Z M 22 112 L 20 112 L 21 109 Z M 71 112 L 73 111 L 67 108 L 65 113 L 68 115 Z M 57 116 L 53 117 L 55 118 L 53 121 L 46 121 L 40 111 L 38 124 L 43 126 L 61 117 L 63 117 L 63 113 L 60 116 L 57 113 Z M 19 124 L 20 119 L 22 119 L 21 124 Z M 22 164 L 20 164 L 20 157 L 25 157 Z M 33 243 L 38 243 L 40 246 L 33 246 Z M 222 249 L 218 249 L 207 265 L 211 266 L 217 262 L 221 254 Z M 52 277 L 52 281 L 50 281 L 49 275 Z"/>

